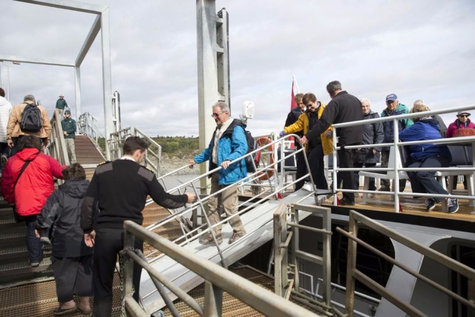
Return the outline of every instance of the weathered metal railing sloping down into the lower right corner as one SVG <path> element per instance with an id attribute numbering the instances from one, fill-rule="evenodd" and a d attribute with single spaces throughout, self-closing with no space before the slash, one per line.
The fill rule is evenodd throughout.
<path id="1" fill-rule="evenodd" d="M 356 268 L 356 249 L 357 245 L 361 245 L 364 248 L 368 249 L 369 251 L 377 254 L 379 257 L 384 259 L 385 261 L 398 266 L 402 270 L 406 271 L 407 273 L 415 276 L 416 278 L 420 279 L 421 281 L 425 282 L 427 285 L 430 285 L 440 292 L 452 297 L 453 299 L 459 301 L 461 304 L 475 309 L 475 303 L 467 300 L 466 298 L 452 292 L 451 290 L 445 288 L 444 286 L 432 281 L 431 279 L 427 278 L 426 276 L 418 273 L 417 271 L 411 269 L 410 267 L 402 264 L 390 256 L 386 255 L 385 253 L 379 251 L 378 249 L 372 247 L 368 243 L 364 242 L 363 240 L 358 238 L 358 227 L 360 225 L 368 226 L 371 229 L 380 232 L 381 234 L 391 238 L 391 240 L 395 240 L 408 248 L 419 252 L 420 254 L 424 255 L 425 257 L 432 259 L 436 263 L 442 264 L 445 267 L 460 273 L 461 275 L 466 276 L 469 280 L 475 280 L 475 269 L 471 268 L 465 264 L 461 264 L 456 260 L 443 255 L 440 252 L 437 252 L 427 246 L 420 244 L 419 242 L 412 240 L 410 238 L 405 237 L 404 235 L 389 229 L 388 227 L 380 224 L 379 222 L 362 215 L 356 211 L 349 212 L 349 223 L 348 223 L 348 231 L 345 231 L 339 227 L 336 230 L 341 233 L 343 236 L 347 237 L 348 240 L 348 252 L 347 252 L 347 266 L 346 266 L 346 298 L 345 298 L 345 310 L 347 317 L 353 317 L 353 311 L 355 306 L 355 282 L 356 280 L 362 282 L 368 288 L 372 289 L 373 291 L 380 294 L 382 297 L 387 299 L 389 302 L 394 304 L 396 307 L 404 311 L 409 316 L 415 317 L 425 317 L 426 315 L 412 306 L 409 303 L 406 303 L 395 296 L 390 291 L 387 291 L 384 286 L 377 283 L 375 280 L 371 279 L 369 276 L 365 275 L 363 272 Z"/>

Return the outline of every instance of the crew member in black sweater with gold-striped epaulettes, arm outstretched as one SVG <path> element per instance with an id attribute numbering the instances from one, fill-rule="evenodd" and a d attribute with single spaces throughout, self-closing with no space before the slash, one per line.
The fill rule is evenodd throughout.
<path id="1" fill-rule="evenodd" d="M 107 317 L 112 312 L 112 280 L 116 256 L 124 248 L 124 220 L 142 225 L 142 210 L 147 195 L 160 206 L 176 209 L 191 203 L 196 196 L 186 193 L 170 195 L 158 183 L 155 174 L 139 165 L 147 143 L 139 137 L 124 142 L 124 156 L 97 166 L 86 192 L 81 213 L 84 241 L 94 252 L 93 316 Z M 97 207 L 96 207 L 97 206 Z M 95 210 L 98 208 L 98 214 Z M 142 240 L 135 239 L 135 248 L 143 250 Z M 134 264 L 134 299 L 139 301 L 142 268 Z"/>

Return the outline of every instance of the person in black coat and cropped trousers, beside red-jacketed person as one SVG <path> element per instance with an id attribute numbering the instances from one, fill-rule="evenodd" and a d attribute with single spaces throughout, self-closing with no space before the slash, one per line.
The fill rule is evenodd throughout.
<path id="1" fill-rule="evenodd" d="M 89 186 L 84 168 L 74 163 L 63 170 L 66 182 L 46 201 L 37 217 L 36 232 L 52 227 L 51 262 L 56 281 L 59 307 L 56 316 L 80 310 L 91 313 L 89 297 L 93 295 L 92 265 L 94 249 L 84 243 L 80 226 L 83 199 Z M 81 297 L 78 305 L 74 295 Z"/>

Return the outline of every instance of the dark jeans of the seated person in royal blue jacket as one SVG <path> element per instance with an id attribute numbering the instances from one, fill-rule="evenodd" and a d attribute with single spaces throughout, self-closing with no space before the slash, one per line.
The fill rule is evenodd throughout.
<path id="1" fill-rule="evenodd" d="M 409 165 L 409 168 L 414 167 L 448 167 L 450 166 L 451 159 L 436 155 L 429 157 L 424 160 L 419 160 L 417 162 Z M 435 179 L 435 172 L 421 171 L 421 172 L 407 172 L 409 179 L 411 180 L 411 187 L 413 193 L 427 193 L 427 194 L 445 194 L 447 191 L 444 190 L 442 185 Z M 444 198 L 434 198 L 437 203 L 440 203 Z"/>

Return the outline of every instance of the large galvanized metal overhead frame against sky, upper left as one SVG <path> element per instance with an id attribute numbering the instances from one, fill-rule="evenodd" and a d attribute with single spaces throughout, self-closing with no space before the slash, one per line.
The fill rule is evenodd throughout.
<path id="1" fill-rule="evenodd" d="M 0 60 L 44 64 L 55 66 L 66 66 L 74 68 L 75 89 L 76 89 L 76 118 L 81 114 L 81 64 L 89 52 L 95 37 L 101 31 L 101 52 L 102 52 L 102 95 L 104 104 L 104 135 L 106 141 L 109 140 L 109 134 L 113 131 L 112 123 L 112 82 L 110 65 L 110 32 L 109 32 L 109 7 L 105 5 L 89 4 L 73 0 L 15 0 L 19 2 L 38 4 L 47 7 L 65 9 L 77 12 L 96 14 L 91 30 L 83 43 L 74 61 L 62 61 L 55 59 L 32 58 L 29 56 L 14 56 L 0 54 Z M 106 142 L 106 158 L 110 159 L 110 151 Z"/>

